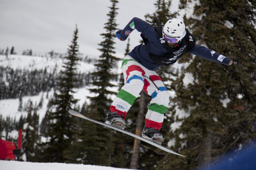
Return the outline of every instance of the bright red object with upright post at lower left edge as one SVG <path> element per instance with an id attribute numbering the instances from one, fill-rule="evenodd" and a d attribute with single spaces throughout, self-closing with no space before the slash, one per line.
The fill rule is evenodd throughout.
<path id="1" fill-rule="evenodd" d="M 1 159 L 15 160 L 16 155 L 19 159 L 21 142 L 22 142 L 22 130 L 19 130 L 19 141 L 18 141 L 17 150 L 15 150 L 14 143 L 0 139 L 0 160 Z"/>

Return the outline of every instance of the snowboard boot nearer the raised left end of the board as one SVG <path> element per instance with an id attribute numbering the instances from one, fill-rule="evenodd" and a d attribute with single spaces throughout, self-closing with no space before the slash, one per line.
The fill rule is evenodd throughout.
<path id="1" fill-rule="evenodd" d="M 124 129 L 124 116 L 118 115 L 117 111 L 108 112 L 105 123 L 116 128 Z"/>

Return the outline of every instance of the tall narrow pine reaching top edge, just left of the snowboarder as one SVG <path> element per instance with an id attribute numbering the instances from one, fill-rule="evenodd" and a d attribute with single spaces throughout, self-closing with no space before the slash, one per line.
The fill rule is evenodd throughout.
<path id="1" fill-rule="evenodd" d="M 118 61 L 118 58 L 114 56 L 115 47 L 113 46 L 115 44 L 117 26 L 115 17 L 117 15 L 116 10 L 118 10 L 116 8 L 118 1 L 111 0 L 111 3 L 110 11 L 107 14 L 109 17 L 108 22 L 104 26 L 105 31 L 100 34 L 103 41 L 99 43 L 99 50 L 102 54 L 95 64 L 96 71 L 92 73 L 94 81 L 92 82 L 93 88 L 90 91 L 94 95 L 90 97 L 91 104 L 84 110 L 86 116 L 99 121 L 105 120 L 106 113 L 111 105 L 110 96 L 116 93 L 111 91 L 110 88 L 116 86 L 111 81 L 116 78 L 116 74 L 113 73 L 112 69 L 116 66 L 116 61 Z M 112 162 L 115 161 L 115 157 L 113 157 L 113 151 L 115 150 L 113 133 L 109 129 L 104 129 L 92 122 L 81 122 L 79 134 L 77 134 L 74 146 L 71 148 L 77 151 L 77 154 L 74 155 L 80 159 L 76 160 L 77 163 L 113 166 Z M 69 157 L 68 161 L 74 161 L 74 158 L 72 160 Z"/>

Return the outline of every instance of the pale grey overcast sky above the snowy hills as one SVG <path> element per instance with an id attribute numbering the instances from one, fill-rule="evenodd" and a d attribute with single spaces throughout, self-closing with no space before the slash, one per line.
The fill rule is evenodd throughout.
<path id="1" fill-rule="evenodd" d="M 172 8 L 177 8 L 173 1 Z M 119 0 L 118 28 L 133 18 L 145 19 L 154 13 L 156 0 Z M 104 24 L 108 21 L 109 0 L 0 0 L 0 49 L 15 47 L 19 54 L 32 49 L 34 53 L 67 52 L 76 24 L 79 29 L 79 51 L 99 56 Z M 133 31 L 131 48 L 138 45 L 140 34 Z M 116 38 L 117 56 L 122 58 L 127 42 Z"/>

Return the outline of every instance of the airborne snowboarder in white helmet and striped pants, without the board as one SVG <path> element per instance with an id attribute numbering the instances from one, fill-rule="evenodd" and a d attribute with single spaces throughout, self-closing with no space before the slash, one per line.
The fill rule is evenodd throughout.
<path id="1" fill-rule="evenodd" d="M 161 144 L 164 137 L 159 130 L 168 109 L 170 95 L 156 73 L 159 66 L 172 65 L 186 53 L 227 66 L 232 65 L 232 60 L 197 45 L 195 37 L 180 19 L 170 19 L 163 27 L 154 27 L 134 17 L 124 29 L 116 31 L 116 37 L 124 41 L 134 29 L 141 33 L 143 43 L 134 47 L 122 62 L 125 84 L 113 100 L 105 123 L 124 129 L 126 114 L 143 89 L 152 100 L 141 136 Z"/>

